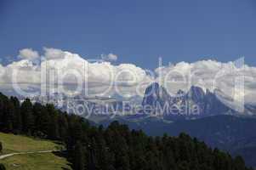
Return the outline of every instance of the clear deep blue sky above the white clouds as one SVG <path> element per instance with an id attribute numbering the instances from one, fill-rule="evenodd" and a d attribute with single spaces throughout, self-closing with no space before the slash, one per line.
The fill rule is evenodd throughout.
<path id="1" fill-rule="evenodd" d="M 154 69 L 168 62 L 235 60 L 256 65 L 254 0 L 0 0 L 0 57 L 61 48 L 85 58 Z"/>

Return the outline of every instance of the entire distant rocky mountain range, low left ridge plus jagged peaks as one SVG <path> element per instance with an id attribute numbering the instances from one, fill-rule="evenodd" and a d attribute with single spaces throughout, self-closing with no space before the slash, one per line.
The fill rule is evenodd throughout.
<path id="1" fill-rule="evenodd" d="M 76 95 L 67 97 L 64 94 L 51 94 L 48 96 L 35 96 L 31 98 L 33 102 L 53 103 L 60 110 L 88 115 L 145 115 L 145 116 L 162 116 L 165 119 L 190 118 L 214 115 L 246 115 L 256 114 L 256 105 L 244 105 L 244 112 L 239 113 L 229 102 L 229 99 L 219 89 L 205 91 L 196 86 L 191 86 L 188 92 L 179 90 L 176 94 L 170 95 L 166 88 L 163 88 L 157 82 L 151 83 L 145 89 L 143 98 L 132 96 L 122 98 L 114 95 L 111 97 L 87 97 Z M 83 113 L 75 111 L 77 105 L 83 106 Z M 138 110 L 137 108 L 140 109 Z M 136 110 L 134 109 L 136 108 Z"/>

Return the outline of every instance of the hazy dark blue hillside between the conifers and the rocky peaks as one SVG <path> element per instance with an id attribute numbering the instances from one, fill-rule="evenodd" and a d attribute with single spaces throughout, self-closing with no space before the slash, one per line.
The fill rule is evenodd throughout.
<path id="1" fill-rule="evenodd" d="M 188 133 L 213 148 L 229 151 L 232 156 L 242 156 L 248 166 L 256 167 L 255 117 L 219 115 L 168 121 L 160 117 L 119 116 L 115 120 L 130 128 L 141 129 L 151 136 L 161 136 L 163 133 L 178 136 L 182 132 Z M 107 127 L 112 121 L 105 119 L 98 123 Z"/>

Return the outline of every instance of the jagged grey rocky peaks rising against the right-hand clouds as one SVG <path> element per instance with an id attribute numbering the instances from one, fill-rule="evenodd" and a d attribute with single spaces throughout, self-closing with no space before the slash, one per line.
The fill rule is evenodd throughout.
<path id="1" fill-rule="evenodd" d="M 212 93 L 209 90 L 205 93 L 202 88 L 191 86 L 187 93 L 179 90 L 175 96 L 171 96 L 168 94 L 168 91 L 157 82 L 152 83 L 145 89 L 145 97 L 142 101 L 142 105 L 144 106 L 143 108 L 145 108 L 146 105 L 151 105 L 154 114 L 162 111 L 161 114 L 164 116 L 210 116 L 232 111 L 218 99 L 214 92 Z M 167 105 L 168 109 L 165 110 Z"/>

